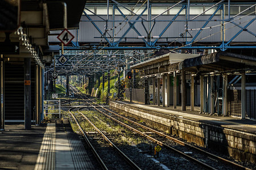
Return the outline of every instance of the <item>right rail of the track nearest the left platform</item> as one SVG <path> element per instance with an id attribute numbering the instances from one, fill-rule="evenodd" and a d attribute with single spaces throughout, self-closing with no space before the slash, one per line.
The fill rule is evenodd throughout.
<path id="1" fill-rule="evenodd" d="M 80 108 L 81 109 L 81 108 Z M 101 136 L 105 139 L 105 141 L 107 141 L 109 143 L 110 146 L 112 146 L 115 150 L 118 151 L 118 154 L 122 156 L 123 159 L 125 159 L 125 161 L 131 165 L 131 167 L 133 167 L 134 169 L 140 169 L 138 167 L 137 164 L 135 164 L 130 158 L 128 158 L 128 156 L 126 156 L 121 150 L 119 150 L 119 148 L 117 146 L 114 145 L 113 142 L 110 141 L 110 139 L 108 137 L 106 137 L 106 135 L 104 133 L 102 133 L 102 131 L 100 129 L 98 129 L 84 114 L 82 114 L 79 109 L 78 109 L 78 112 L 81 114 L 82 117 L 85 118 L 86 121 L 89 122 L 89 124 L 91 126 L 93 126 L 93 128 L 98 131 L 99 134 L 101 134 Z"/>

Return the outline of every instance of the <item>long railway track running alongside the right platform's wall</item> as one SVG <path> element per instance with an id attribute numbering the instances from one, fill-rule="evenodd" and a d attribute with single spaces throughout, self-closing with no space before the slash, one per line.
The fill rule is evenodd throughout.
<path id="1" fill-rule="evenodd" d="M 192 162 L 195 162 L 197 164 L 200 164 L 201 166 L 203 166 L 206 169 L 220 169 L 223 167 L 225 167 L 227 169 L 249 169 L 249 168 L 243 167 L 242 165 L 239 165 L 237 163 L 231 162 L 230 160 L 221 158 L 220 156 L 211 154 L 207 151 L 201 150 L 200 148 L 189 145 L 189 144 L 187 144 L 183 141 L 180 141 L 176 138 L 172 138 L 172 137 L 170 137 L 164 133 L 161 133 L 157 130 L 154 130 L 154 129 L 148 128 L 147 126 L 138 124 L 137 122 L 130 120 L 129 118 L 123 117 L 120 114 L 110 111 L 110 109 L 102 107 L 101 105 L 98 105 L 94 101 L 90 100 L 88 97 L 81 95 L 80 92 L 77 91 L 75 87 L 73 87 L 73 91 L 75 91 L 76 94 L 79 94 L 78 96 L 81 97 L 81 99 L 84 99 L 88 105 L 91 105 L 91 107 L 93 107 L 96 111 L 104 114 L 106 117 L 109 117 L 113 121 L 118 122 L 118 124 L 121 124 L 122 126 L 125 126 L 126 128 L 135 131 L 135 133 L 143 135 L 150 141 L 158 143 L 158 145 L 164 146 L 164 147 L 176 152 L 177 154 L 180 154 L 184 158 L 191 160 Z M 90 103 L 88 102 L 88 100 L 90 101 Z M 98 108 L 96 108 L 95 105 L 97 105 Z M 125 120 L 134 126 L 137 126 L 137 128 L 133 128 L 133 127 L 125 124 L 122 120 Z M 144 130 L 150 131 L 151 133 L 157 134 L 159 137 L 157 137 L 157 139 L 152 138 L 152 137 L 150 137 L 150 135 L 146 135 L 142 131 L 137 130 L 138 127 L 143 128 Z M 168 139 L 168 141 L 166 141 L 166 139 Z M 175 147 L 175 148 L 172 147 L 170 145 L 170 141 L 179 144 L 181 147 Z M 176 148 L 179 148 L 179 149 L 176 149 Z M 188 150 L 189 150 L 190 155 L 184 154 L 184 152 L 188 151 Z"/>

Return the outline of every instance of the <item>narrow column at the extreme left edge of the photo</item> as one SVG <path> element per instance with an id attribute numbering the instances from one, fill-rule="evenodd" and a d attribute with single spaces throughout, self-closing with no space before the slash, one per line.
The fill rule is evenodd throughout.
<path id="1" fill-rule="evenodd" d="M 1 130 L 5 130 L 5 105 L 3 104 L 4 97 L 4 74 L 3 74 L 3 54 L 1 54 L 1 69 L 0 69 L 0 84 L 1 84 Z"/>

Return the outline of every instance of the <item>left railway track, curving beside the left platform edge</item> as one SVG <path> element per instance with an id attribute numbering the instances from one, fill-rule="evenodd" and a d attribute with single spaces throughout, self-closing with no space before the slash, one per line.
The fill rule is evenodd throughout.
<path id="1" fill-rule="evenodd" d="M 80 132 L 82 133 L 83 137 L 85 138 L 86 143 L 87 143 L 88 146 L 92 149 L 92 151 L 93 151 L 94 155 L 96 156 L 98 162 L 101 164 L 101 167 L 104 168 L 104 169 L 108 169 L 107 166 L 106 166 L 106 164 L 104 163 L 104 161 L 100 158 L 100 156 L 99 156 L 99 154 L 97 153 L 96 149 L 93 147 L 93 145 L 90 143 L 89 139 L 86 137 L 86 134 L 85 134 L 84 131 L 82 130 L 81 125 L 79 124 L 79 121 L 77 121 L 76 116 L 71 112 L 72 109 L 74 109 L 74 108 L 69 109 L 69 114 L 72 116 L 73 120 L 75 120 L 76 125 L 79 127 L 79 130 L 80 130 Z M 101 137 L 102 137 L 103 139 L 105 139 L 105 141 L 109 144 L 109 146 L 113 147 L 114 150 L 115 150 L 116 152 L 118 152 L 118 155 L 121 156 L 121 158 L 122 158 L 121 161 L 123 162 L 123 160 L 125 160 L 125 162 L 126 162 L 127 164 L 129 164 L 129 166 L 127 166 L 126 168 L 122 168 L 122 169 L 127 169 L 127 168 L 128 168 L 128 169 L 141 169 L 141 168 L 138 167 L 137 164 L 135 164 L 131 159 L 129 159 L 129 157 L 128 157 L 127 155 L 125 155 L 121 150 L 119 150 L 119 148 L 118 148 L 117 146 L 115 146 L 114 143 L 113 143 L 112 141 L 110 141 L 110 139 L 109 139 L 100 129 L 98 129 L 98 128 L 93 124 L 92 121 L 89 120 L 89 118 L 87 118 L 87 117 L 86 117 L 84 114 L 82 114 L 79 110 L 78 110 L 77 112 L 79 113 L 79 115 L 80 115 L 82 118 L 84 118 L 84 120 L 86 120 L 86 121 L 93 127 L 94 130 L 97 131 L 97 133 L 96 133 L 97 135 L 100 134 Z M 113 152 L 113 154 L 114 154 L 114 152 Z M 116 161 L 116 160 L 115 160 L 115 161 Z M 118 166 L 121 166 L 121 164 L 123 164 L 123 163 L 119 163 Z M 117 165 L 116 165 L 116 166 L 117 166 Z"/>

